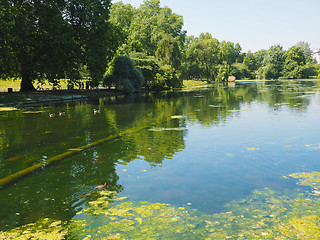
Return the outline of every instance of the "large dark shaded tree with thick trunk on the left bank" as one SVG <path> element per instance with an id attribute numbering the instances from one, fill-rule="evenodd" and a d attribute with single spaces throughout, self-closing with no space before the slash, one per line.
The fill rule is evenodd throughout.
<path id="1" fill-rule="evenodd" d="M 108 51 L 110 0 L 1 0 L 0 76 L 21 77 L 20 91 L 35 79 L 80 78 L 86 65 L 94 85 Z"/>

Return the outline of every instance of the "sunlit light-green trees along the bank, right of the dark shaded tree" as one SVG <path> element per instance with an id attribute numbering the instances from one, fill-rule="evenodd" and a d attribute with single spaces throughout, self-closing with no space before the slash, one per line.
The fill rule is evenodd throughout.
<path id="1" fill-rule="evenodd" d="M 134 60 L 148 88 L 181 86 L 181 79 L 212 82 L 317 75 L 318 66 L 306 42 L 299 42 L 287 51 L 274 45 L 268 50 L 243 53 L 239 43 L 219 41 L 209 33 L 187 36 L 182 30 L 182 16 L 168 7 L 162 8 L 158 0 L 145 1 L 139 8 L 115 3 L 110 21 L 123 32 L 117 55 Z"/>

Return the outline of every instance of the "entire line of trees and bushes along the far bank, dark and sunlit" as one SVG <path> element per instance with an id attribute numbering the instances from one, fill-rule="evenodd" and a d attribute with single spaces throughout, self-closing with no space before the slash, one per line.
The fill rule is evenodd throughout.
<path id="1" fill-rule="evenodd" d="M 319 65 L 310 45 L 299 42 L 243 53 L 238 43 L 209 33 L 187 36 L 183 17 L 159 0 L 140 7 L 101 0 L 1 1 L 0 77 L 20 77 L 21 91 L 34 80 L 80 79 L 136 92 L 182 86 L 182 79 L 309 78 Z"/>

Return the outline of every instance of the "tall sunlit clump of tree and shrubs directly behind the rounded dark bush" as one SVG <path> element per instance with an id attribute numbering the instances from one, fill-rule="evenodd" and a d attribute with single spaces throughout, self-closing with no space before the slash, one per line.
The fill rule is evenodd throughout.
<path id="1" fill-rule="evenodd" d="M 139 8 L 114 4 L 110 21 L 125 33 L 125 42 L 118 48 L 118 54 L 134 60 L 146 79 L 147 88 L 160 90 L 168 85 L 181 85 L 177 78 L 163 75 L 159 65 L 170 65 L 175 71 L 180 69 L 186 34 L 182 31 L 182 16 L 168 7 L 162 8 L 159 0 L 146 0 Z M 172 80 L 177 82 L 171 83 Z"/>

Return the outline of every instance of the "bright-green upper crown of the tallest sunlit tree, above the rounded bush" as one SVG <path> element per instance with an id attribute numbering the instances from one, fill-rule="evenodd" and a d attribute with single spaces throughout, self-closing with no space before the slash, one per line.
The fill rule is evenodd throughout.
<path id="1" fill-rule="evenodd" d="M 120 8 L 120 5 L 118 6 Z M 111 19 L 127 19 L 123 13 L 132 16 L 130 7 L 122 6 L 122 11 L 111 12 Z M 122 23 L 124 20 L 120 20 Z M 143 4 L 134 10 L 132 19 L 125 20 L 125 29 L 128 29 L 128 38 L 122 53 L 144 52 L 148 56 L 155 56 L 159 42 L 167 37 L 177 40 L 181 48 L 185 31 L 182 31 L 183 18 L 175 14 L 168 7 L 161 7 L 159 0 L 145 0 Z M 130 24 L 130 26 L 128 26 Z"/>

